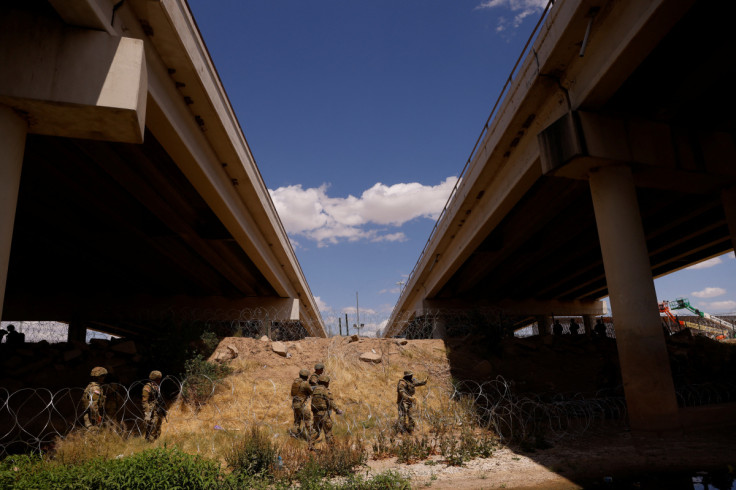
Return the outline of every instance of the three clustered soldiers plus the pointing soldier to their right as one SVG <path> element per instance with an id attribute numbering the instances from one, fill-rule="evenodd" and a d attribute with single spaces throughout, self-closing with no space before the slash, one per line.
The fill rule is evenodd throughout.
<path id="1" fill-rule="evenodd" d="M 325 366 L 322 363 L 314 365 L 314 372 L 310 375 L 309 370 L 301 369 L 299 377 L 291 384 L 291 408 L 294 411 L 294 426 L 289 429 L 289 434 L 295 438 L 306 439 L 310 449 L 319 439 L 320 433 L 324 433 L 327 444 L 334 443 L 332 435 L 332 411 L 342 415 L 343 411 L 335 405 L 335 400 L 330 391 L 330 377 L 324 374 Z M 411 433 L 414 431 L 414 405 L 417 400 L 414 397 L 417 386 L 424 386 L 427 380 L 417 381 L 414 373 L 404 371 L 404 377 L 396 386 L 396 405 L 399 412 L 397 428 L 401 432 Z M 311 403 L 308 404 L 308 402 Z M 311 413 L 310 413 L 311 412 Z"/>

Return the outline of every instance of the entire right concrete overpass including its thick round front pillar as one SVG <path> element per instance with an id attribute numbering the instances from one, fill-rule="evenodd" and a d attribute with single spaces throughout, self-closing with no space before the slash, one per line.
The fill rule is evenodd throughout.
<path id="1" fill-rule="evenodd" d="M 588 323 L 610 296 L 632 427 L 678 427 L 653 277 L 736 243 L 725 17 L 707 2 L 556 1 L 385 335 L 482 307 Z"/>

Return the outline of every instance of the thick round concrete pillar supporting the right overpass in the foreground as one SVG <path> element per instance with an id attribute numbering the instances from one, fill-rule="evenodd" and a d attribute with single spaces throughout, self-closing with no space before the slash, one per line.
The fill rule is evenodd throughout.
<path id="1" fill-rule="evenodd" d="M 631 169 L 595 169 L 590 191 L 631 428 L 676 429 L 677 399 Z"/>

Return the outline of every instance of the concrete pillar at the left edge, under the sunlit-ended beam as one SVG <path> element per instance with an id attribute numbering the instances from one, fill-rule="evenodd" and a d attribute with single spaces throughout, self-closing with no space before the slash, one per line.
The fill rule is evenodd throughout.
<path id="1" fill-rule="evenodd" d="M 28 125 L 12 109 L 0 105 L 0 318 L 13 241 L 15 207 L 18 203 L 23 152 Z"/>

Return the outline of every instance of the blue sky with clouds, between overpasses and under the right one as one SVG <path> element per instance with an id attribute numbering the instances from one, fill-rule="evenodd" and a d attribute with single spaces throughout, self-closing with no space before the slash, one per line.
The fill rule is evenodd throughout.
<path id="1" fill-rule="evenodd" d="M 546 0 L 189 4 L 325 322 L 379 328 Z M 658 295 L 736 311 L 720 260 Z"/>

